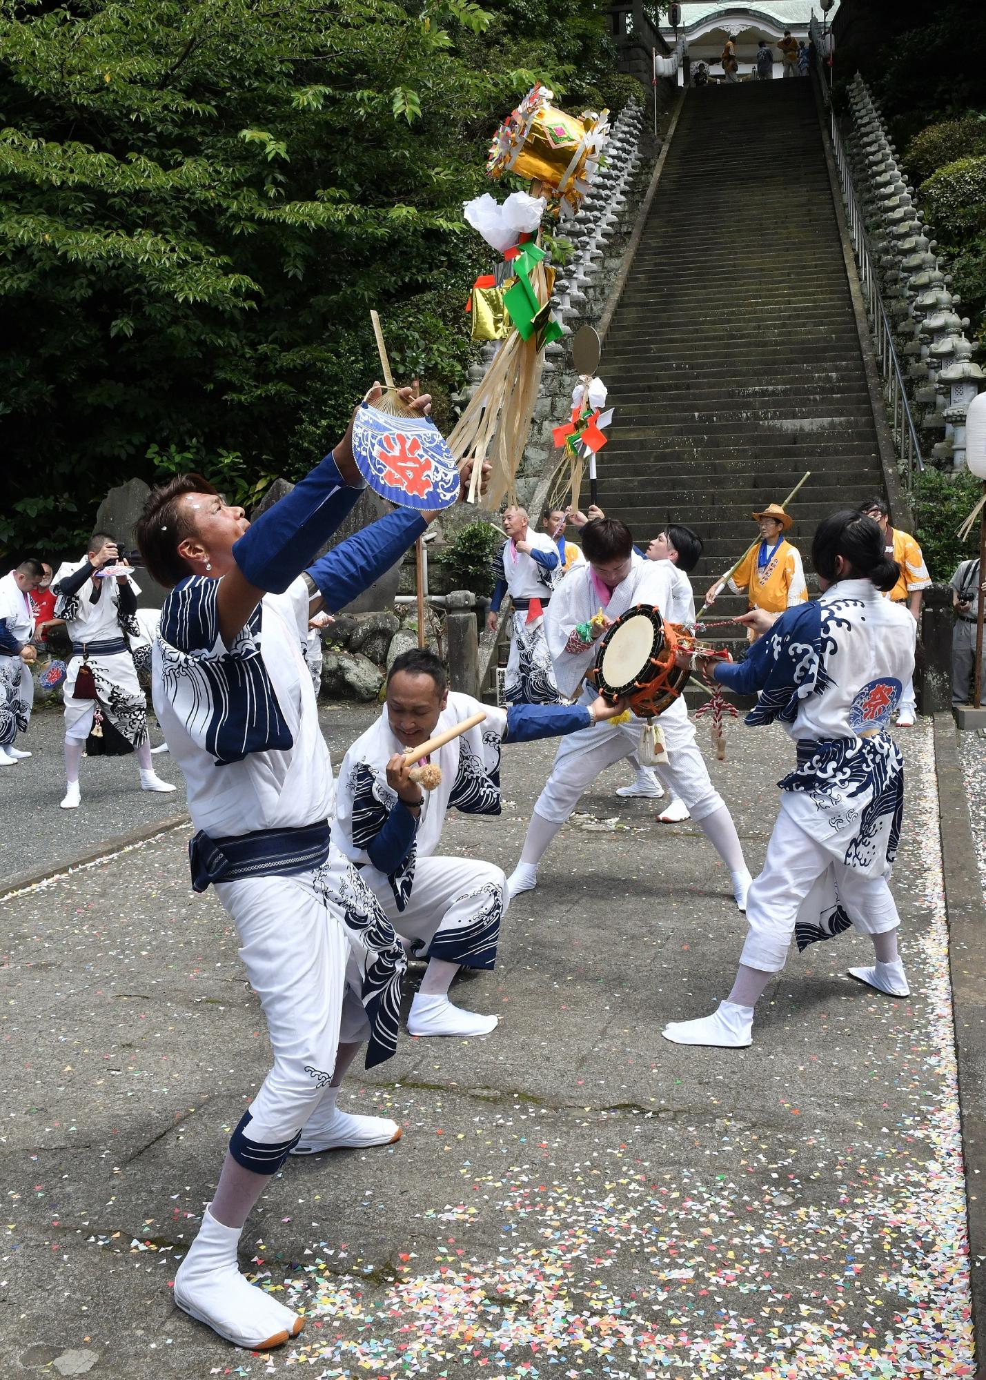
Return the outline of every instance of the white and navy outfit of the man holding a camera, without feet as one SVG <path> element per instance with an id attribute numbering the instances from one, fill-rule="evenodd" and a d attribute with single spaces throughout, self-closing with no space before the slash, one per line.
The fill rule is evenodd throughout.
<path id="1" fill-rule="evenodd" d="M 55 571 L 51 581 L 52 589 L 58 593 L 58 585 L 68 575 L 87 564 L 87 558 L 81 560 L 66 560 Z M 134 595 L 139 596 L 141 586 L 133 575 L 128 577 Z M 65 618 L 65 631 L 72 642 L 99 643 L 112 642 L 137 635 L 138 627 L 133 621 L 126 628 L 120 625 L 120 589 L 115 575 L 98 580 L 99 598 L 91 600 L 93 581 L 86 584 L 73 595 L 58 593 L 55 600 L 55 615 Z M 65 736 L 69 740 L 84 741 L 93 724 L 94 701 L 75 700 L 76 676 L 83 665 L 83 657 L 73 653 L 65 671 L 65 684 L 62 697 L 65 700 Z M 119 729 L 124 738 L 138 747 L 146 737 L 146 700 L 137 679 L 137 669 L 130 650 L 115 651 L 109 656 L 94 656 L 88 661 L 99 709 Z"/>

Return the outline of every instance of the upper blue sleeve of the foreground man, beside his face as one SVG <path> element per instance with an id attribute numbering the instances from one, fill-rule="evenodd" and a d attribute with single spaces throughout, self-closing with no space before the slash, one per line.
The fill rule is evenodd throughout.
<path id="1" fill-rule="evenodd" d="M 233 542 L 233 560 L 251 585 L 283 593 L 362 491 L 344 483 L 330 453 Z"/>

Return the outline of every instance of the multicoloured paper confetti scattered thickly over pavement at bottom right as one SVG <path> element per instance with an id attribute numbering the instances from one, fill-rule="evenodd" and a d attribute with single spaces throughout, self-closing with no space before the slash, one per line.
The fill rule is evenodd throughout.
<path id="1" fill-rule="evenodd" d="M 927 781 L 929 733 L 914 747 L 911 780 Z M 916 900 L 929 925 L 906 951 L 913 1017 L 893 1024 L 895 1082 L 907 1114 L 882 1127 L 880 1140 L 835 1147 L 831 1130 L 798 1125 L 797 1145 L 779 1158 L 776 1136 L 726 1119 L 717 1154 L 735 1166 L 731 1173 L 668 1170 L 655 1167 L 660 1140 L 650 1116 L 634 1123 L 635 1136 L 626 1118 L 612 1118 L 603 1138 L 605 1114 L 586 1108 L 601 1123 L 606 1172 L 584 1163 L 568 1179 L 545 1179 L 543 1165 L 528 1161 L 510 1176 L 487 1174 L 467 1161 L 468 1198 L 409 1224 L 413 1245 L 399 1259 L 351 1261 L 337 1241 L 320 1239 L 286 1274 L 279 1267 L 276 1285 L 265 1271 L 261 1282 L 304 1311 L 308 1325 L 290 1351 L 253 1358 L 262 1372 L 249 1373 L 301 1365 L 320 1377 L 447 1377 L 472 1369 L 511 1380 L 971 1377 L 965 1185 L 934 796 L 913 793 L 907 828 L 921 862 Z M 895 1007 L 874 994 L 870 1010 L 882 1024 Z M 885 1049 L 877 1057 L 887 1061 Z M 533 1132 L 548 1125 L 541 1118 Z M 841 1187 L 826 1196 L 813 1169 L 833 1162 Z M 476 1253 L 470 1228 L 490 1214 L 501 1249 Z M 813 1286 L 793 1286 L 791 1265 L 804 1270 L 805 1261 Z"/>

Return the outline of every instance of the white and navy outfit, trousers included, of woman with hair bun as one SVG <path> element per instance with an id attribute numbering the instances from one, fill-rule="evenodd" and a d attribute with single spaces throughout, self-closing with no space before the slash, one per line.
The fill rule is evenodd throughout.
<path id="1" fill-rule="evenodd" d="M 747 897 L 750 967 L 777 972 L 791 934 L 804 949 L 849 925 L 878 933 L 898 922 L 887 879 L 903 758 L 888 729 L 914 669 L 916 629 L 869 580 L 841 580 L 782 614 L 746 661 L 717 667 L 724 684 L 758 691 L 746 722 L 776 719 L 798 748 Z"/>

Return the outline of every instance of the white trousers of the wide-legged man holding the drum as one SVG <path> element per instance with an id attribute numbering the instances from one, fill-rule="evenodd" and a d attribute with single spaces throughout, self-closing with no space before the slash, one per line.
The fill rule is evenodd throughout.
<path id="1" fill-rule="evenodd" d="M 583 697 L 583 704 L 591 697 Z M 641 719 L 631 719 L 613 729 L 597 723 L 577 733 L 569 733 L 558 744 L 558 752 L 534 810 L 543 820 L 563 824 L 579 803 L 579 798 L 606 767 L 624 758 L 632 758 L 641 741 Z M 660 780 L 688 806 L 697 822 L 722 809 L 722 796 L 708 778 L 706 759 L 695 745 L 695 729 L 689 719 L 663 716 L 667 742 L 667 763 L 660 766 Z"/>

